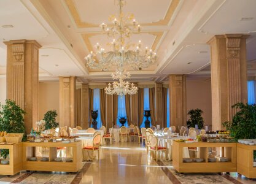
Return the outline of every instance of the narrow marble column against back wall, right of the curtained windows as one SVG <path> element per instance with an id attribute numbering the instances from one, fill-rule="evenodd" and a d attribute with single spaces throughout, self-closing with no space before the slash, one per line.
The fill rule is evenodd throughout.
<path id="1" fill-rule="evenodd" d="M 156 107 L 157 107 L 157 123 L 156 125 L 160 125 L 163 128 L 163 85 L 161 83 L 156 83 Z"/>

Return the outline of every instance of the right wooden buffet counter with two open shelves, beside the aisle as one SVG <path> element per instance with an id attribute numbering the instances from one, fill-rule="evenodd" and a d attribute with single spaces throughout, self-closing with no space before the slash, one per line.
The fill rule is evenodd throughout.
<path id="1" fill-rule="evenodd" d="M 182 151 L 184 147 L 197 147 L 198 157 L 203 158 L 201 163 L 184 163 Z M 227 156 L 227 162 L 208 162 L 209 148 L 220 148 L 222 156 Z M 173 142 L 173 166 L 178 172 L 236 172 L 236 143 L 210 142 Z"/>

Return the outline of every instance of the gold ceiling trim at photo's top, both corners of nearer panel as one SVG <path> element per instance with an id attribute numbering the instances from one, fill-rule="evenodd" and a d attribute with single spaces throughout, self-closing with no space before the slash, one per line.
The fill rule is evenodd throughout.
<path id="1" fill-rule="evenodd" d="M 69 9 L 69 12 L 71 13 L 72 18 L 74 19 L 77 28 L 92 28 L 92 27 L 98 27 L 98 24 L 93 23 L 87 23 L 83 22 L 80 17 L 79 13 L 76 9 L 76 6 L 74 4 L 74 0 L 65 0 L 66 6 Z M 173 17 L 173 13 L 176 10 L 177 6 L 179 5 L 180 0 L 172 0 L 171 4 L 169 5 L 168 11 L 166 12 L 165 18 L 155 21 L 153 23 L 142 23 L 142 26 L 167 26 L 169 21 L 171 20 L 171 17 Z"/>

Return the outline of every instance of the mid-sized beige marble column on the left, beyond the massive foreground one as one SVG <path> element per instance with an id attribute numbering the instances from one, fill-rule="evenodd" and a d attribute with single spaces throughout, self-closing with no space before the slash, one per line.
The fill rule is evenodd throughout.
<path id="1" fill-rule="evenodd" d="M 75 128 L 76 77 L 60 77 L 60 126 Z"/>

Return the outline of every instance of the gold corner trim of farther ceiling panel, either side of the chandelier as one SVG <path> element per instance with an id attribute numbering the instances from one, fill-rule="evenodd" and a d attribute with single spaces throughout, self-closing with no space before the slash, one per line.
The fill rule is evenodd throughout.
<path id="1" fill-rule="evenodd" d="M 152 50 L 155 50 L 161 40 L 161 37 L 163 36 L 163 31 L 142 32 L 141 34 L 143 33 L 152 34 L 153 36 L 155 36 L 155 40 L 153 40 L 153 44 L 151 47 Z M 85 42 L 85 45 L 87 46 L 89 52 L 93 51 L 93 46 L 91 45 L 90 37 L 96 36 L 99 34 L 104 34 L 104 33 L 83 33 L 82 34 L 83 41 Z"/>

